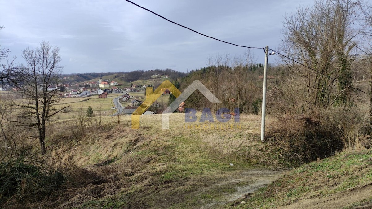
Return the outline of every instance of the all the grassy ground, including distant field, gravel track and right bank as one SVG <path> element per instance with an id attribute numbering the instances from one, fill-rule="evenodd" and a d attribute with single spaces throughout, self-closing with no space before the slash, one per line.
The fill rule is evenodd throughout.
<path id="1" fill-rule="evenodd" d="M 71 112 L 58 115 L 54 123 L 58 125 L 48 126 L 46 145 L 48 153 L 70 169 L 68 182 L 78 183 L 66 186 L 57 200 L 46 205 L 177 209 L 372 206 L 372 151 L 368 149 L 337 152 L 286 171 L 278 179 L 280 172 L 273 170 L 291 165 L 283 161 L 275 144 L 260 141 L 260 116 L 240 115 L 239 123 L 186 123 L 184 114 L 174 113 L 170 114 L 169 130 L 163 130 L 162 115 L 143 115 L 140 129 L 131 129 L 131 116 L 121 116 L 120 121 L 110 116 L 116 111 L 111 109 L 112 99 L 119 95 L 65 98 L 59 104 L 70 105 Z M 158 101 L 167 102 L 168 97 Z M 78 111 L 82 108 L 85 114 L 88 106 L 96 114 L 101 107 L 101 126 L 87 119 L 84 127 L 78 126 Z M 201 113 L 197 116 L 200 119 Z M 275 120 L 268 117 L 266 122 L 270 125 Z M 262 187 L 266 183 L 260 182 L 270 184 Z M 240 204 L 243 200 L 246 203 Z"/>

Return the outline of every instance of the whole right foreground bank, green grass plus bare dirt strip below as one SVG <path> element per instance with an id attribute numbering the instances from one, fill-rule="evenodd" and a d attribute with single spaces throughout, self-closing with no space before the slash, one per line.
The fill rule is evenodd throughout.
<path id="1" fill-rule="evenodd" d="M 228 208 L 371 208 L 372 151 L 341 152 L 288 171 Z"/>

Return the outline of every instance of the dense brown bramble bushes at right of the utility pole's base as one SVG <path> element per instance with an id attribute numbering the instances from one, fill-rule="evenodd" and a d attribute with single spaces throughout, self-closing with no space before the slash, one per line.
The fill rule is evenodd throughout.
<path id="1" fill-rule="evenodd" d="M 356 140 L 360 138 L 355 127 L 360 122 L 357 111 L 341 108 L 311 115 L 280 116 L 268 127 L 266 138 L 285 160 L 301 164 L 344 148 L 358 147 L 360 142 Z M 363 143 L 369 144 L 367 140 Z"/>

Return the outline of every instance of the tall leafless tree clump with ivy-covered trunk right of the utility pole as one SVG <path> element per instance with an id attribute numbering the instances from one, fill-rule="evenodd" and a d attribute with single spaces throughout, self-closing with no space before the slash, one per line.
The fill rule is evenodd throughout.
<path id="1" fill-rule="evenodd" d="M 282 51 L 290 59 L 283 57 L 283 61 L 306 84 L 303 91 L 309 108 L 349 102 L 351 52 L 360 35 L 353 23 L 359 20 L 359 5 L 358 0 L 315 0 L 314 6 L 300 6 L 285 18 Z"/>

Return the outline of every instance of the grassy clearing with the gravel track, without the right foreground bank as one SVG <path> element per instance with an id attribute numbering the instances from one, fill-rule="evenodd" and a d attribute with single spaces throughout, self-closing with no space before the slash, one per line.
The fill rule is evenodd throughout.
<path id="1" fill-rule="evenodd" d="M 121 119 L 117 126 L 115 118 L 104 117 L 102 129 L 88 126 L 82 138 L 73 135 L 75 120 L 64 123 L 70 131 L 54 131 L 48 144 L 63 163 L 89 170 L 85 178 L 105 179 L 71 188 L 64 207 L 200 208 L 224 203 L 226 195 L 262 179 L 244 179 L 244 172 L 282 166 L 259 140 L 260 116 L 242 115 L 238 125 L 216 122 L 211 129 L 211 123 L 187 126 L 185 115 L 175 113 L 169 130 L 161 129 L 161 115 L 141 116 L 138 130 L 130 128 L 130 116 Z"/>

